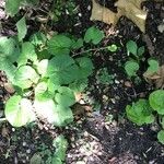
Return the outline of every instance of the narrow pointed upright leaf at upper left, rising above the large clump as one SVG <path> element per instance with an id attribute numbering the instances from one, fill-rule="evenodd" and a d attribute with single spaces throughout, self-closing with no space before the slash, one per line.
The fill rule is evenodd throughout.
<path id="1" fill-rule="evenodd" d="M 25 17 L 24 16 L 16 23 L 16 27 L 17 27 L 19 42 L 21 42 L 25 37 L 25 35 L 27 33 L 27 27 L 26 27 L 26 23 L 25 23 Z"/>

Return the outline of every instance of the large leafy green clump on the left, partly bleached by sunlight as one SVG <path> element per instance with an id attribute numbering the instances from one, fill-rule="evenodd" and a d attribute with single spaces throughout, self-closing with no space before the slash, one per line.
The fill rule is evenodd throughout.
<path id="1" fill-rule="evenodd" d="M 37 33 L 30 42 L 23 42 L 24 21 L 17 30 L 17 37 L 0 38 L 0 69 L 15 89 L 15 94 L 7 101 L 5 117 L 14 127 L 37 118 L 66 126 L 73 120 L 70 107 L 75 103 L 74 93 L 85 89 L 93 70 L 90 58 L 70 56 L 83 46 L 83 39 L 59 34 L 48 40 Z"/>

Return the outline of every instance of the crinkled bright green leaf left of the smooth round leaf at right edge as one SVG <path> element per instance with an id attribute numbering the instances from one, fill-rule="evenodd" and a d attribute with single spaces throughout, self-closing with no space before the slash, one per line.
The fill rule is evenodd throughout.
<path id="1" fill-rule="evenodd" d="M 154 121 L 152 109 L 147 99 L 139 99 L 137 103 L 132 103 L 132 106 L 126 107 L 127 117 L 138 126 L 143 124 L 151 124 Z"/>

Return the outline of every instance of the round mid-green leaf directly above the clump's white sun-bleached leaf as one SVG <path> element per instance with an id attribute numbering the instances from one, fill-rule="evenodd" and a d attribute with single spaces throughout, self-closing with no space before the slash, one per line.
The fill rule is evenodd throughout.
<path id="1" fill-rule="evenodd" d="M 58 89 L 58 93 L 55 95 L 55 101 L 59 105 L 68 107 L 75 103 L 75 96 L 72 90 L 66 86 L 61 86 Z"/>

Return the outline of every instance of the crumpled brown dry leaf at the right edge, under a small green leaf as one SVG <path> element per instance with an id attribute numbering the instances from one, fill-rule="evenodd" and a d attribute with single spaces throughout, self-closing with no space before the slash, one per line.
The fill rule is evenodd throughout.
<path id="1" fill-rule="evenodd" d="M 164 87 L 164 65 L 160 67 L 157 72 L 154 73 L 143 73 L 144 79 L 149 83 L 154 83 L 156 89 Z"/>

